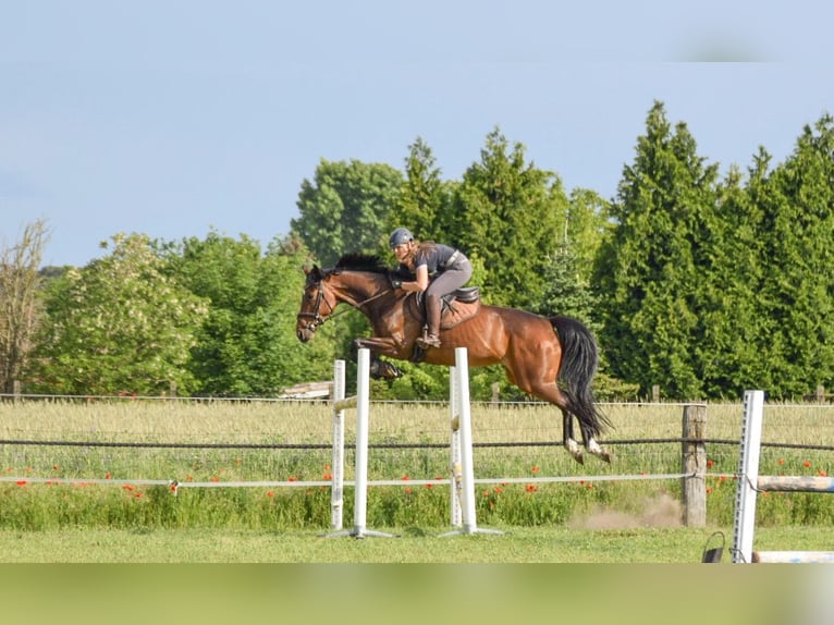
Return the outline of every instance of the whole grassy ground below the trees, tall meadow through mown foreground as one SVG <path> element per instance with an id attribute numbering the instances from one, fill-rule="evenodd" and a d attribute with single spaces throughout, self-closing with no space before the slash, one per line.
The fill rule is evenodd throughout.
<path id="1" fill-rule="evenodd" d="M 732 539 L 740 403 L 707 407 L 706 437 L 714 442 L 707 448 L 708 527 L 698 529 L 680 526 L 680 479 L 650 477 L 682 470 L 683 405 L 603 408 L 615 425 L 603 437 L 614 455 L 611 465 L 593 457 L 584 465 L 573 461 L 556 444 L 561 418 L 549 406 L 473 406 L 478 525 L 514 538 L 502 542 L 502 537 L 466 537 L 462 553 L 425 544 L 433 544 L 438 535 L 451 529 L 450 487 L 443 481 L 450 474 L 449 406 L 372 402 L 369 479 L 391 483 L 369 490 L 368 527 L 401 536 L 397 542 L 406 547 L 382 548 L 387 555 L 375 555 L 367 548 L 364 557 L 490 562 L 489 553 L 499 546 L 513 544 L 515 555 L 504 548 L 495 552 L 501 561 L 691 562 L 713 530 Z M 354 415 L 348 410 L 345 419 L 347 480 Z M 45 537 L 83 531 L 88 538 L 98 537 L 93 542 L 102 546 L 105 561 L 113 553 L 125 555 L 124 549 L 103 546 L 112 541 L 128 546 L 131 537 L 142 537 L 145 546 L 155 540 L 165 546 L 146 554 L 148 561 L 167 561 L 161 553 L 199 561 L 196 551 L 171 552 L 167 542 L 183 544 L 187 538 L 200 544 L 209 536 L 217 539 L 214 549 L 204 553 L 209 561 L 237 561 L 217 547 L 226 542 L 235 546 L 236 553 L 248 554 L 244 561 L 260 561 L 254 553 L 282 554 L 271 556 L 279 561 L 354 561 L 351 557 L 357 553 L 340 548 L 336 555 L 316 540 L 331 529 L 331 429 L 332 410 L 326 402 L 2 402 L 2 553 L 5 561 L 84 561 L 85 554 L 93 557 L 95 552 L 89 540 L 82 541 L 86 551 L 63 555 L 54 548 L 38 555 L 37 548 L 33 552 L 26 547 L 44 543 Z M 834 407 L 766 405 L 763 441 L 792 446 L 764 446 L 762 474 L 827 475 L 834 455 L 799 445 L 834 442 Z M 349 527 L 353 498 L 349 488 L 346 491 L 344 519 Z M 775 544 L 769 549 L 831 548 L 821 544 L 834 524 L 830 499 L 762 493 L 757 537 L 764 541 L 772 537 Z M 808 546 L 778 546 L 783 539 L 795 542 L 802 536 Z M 302 554 L 263 547 L 286 544 L 286 537 L 301 539 L 302 544 L 311 540 L 311 546 Z M 596 552 L 588 547 L 601 538 L 608 549 Z M 576 551 L 571 544 L 586 548 Z M 661 546 L 661 551 L 652 552 L 648 544 Z"/>

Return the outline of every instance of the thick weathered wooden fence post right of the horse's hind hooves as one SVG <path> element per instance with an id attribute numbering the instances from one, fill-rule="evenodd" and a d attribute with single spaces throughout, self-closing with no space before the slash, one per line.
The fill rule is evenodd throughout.
<path id="1" fill-rule="evenodd" d="M 707 406 L 689 404 L 684 406 L 684 442 L 682 478 L 684 525 L 704 527 L 707 525 Z"/>

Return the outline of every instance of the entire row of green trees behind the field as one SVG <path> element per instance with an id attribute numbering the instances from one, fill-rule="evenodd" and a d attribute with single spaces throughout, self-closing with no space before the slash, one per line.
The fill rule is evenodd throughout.
<path id="1" fill-rule="evenodd" d="M 834 378 L 834 118 L 802 128 L 772 163 L 746 170 L 698 154 L 655 101 L 614 198 L 567 192 L 495 127 L 461 180 L 421 138 L 402 170 L 321 159 L 291 230 L 260 242 L 211 231 L 154 241 L 116 234 L 82 268 L 40 268 L 44 222 L 0 256 L 0 376 L 5 392 L 271 396 L 332 375 L 367 333 L 347 311 L 316 341 L 295 338 L 305 265 L 346 253 L 391 261 L 389 233 L 463 249 L 490 304 L 585 321 L 602 355 L 597 392 L 675 400 L 810 394 Z M 443 397 L 442 368 L 406 364 L 381 396 Z M 473 396 L 503 373 L 476 369 Z"/>

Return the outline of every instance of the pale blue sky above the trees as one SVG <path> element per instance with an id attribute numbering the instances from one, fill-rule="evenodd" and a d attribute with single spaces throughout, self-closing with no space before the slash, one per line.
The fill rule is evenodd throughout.
<path id="1" fill-rule="evenodd" d="M 834 9 L 769 4 L 5 2 L 0 243 L 45 219 L 45 265 L 119 232 L 266 244 L 320 159 L 402 168 L 421 137 L 457 180 L 496 126 L 613 197 L 654 100 L 722 171 L 778 162 L 834 113 Z"/>

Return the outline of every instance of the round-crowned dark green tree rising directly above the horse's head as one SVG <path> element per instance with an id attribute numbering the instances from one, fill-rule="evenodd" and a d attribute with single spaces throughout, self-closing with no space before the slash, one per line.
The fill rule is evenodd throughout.
<path id="1" fill-rule="evenodd" d="M 348 252 L 373 253 L 388 241 L 389 213 L 398 201 L 403 175 L 387 164 L 321 159 L 314 182 L 302 182 L 298 219 L 290 221 L 324 267 Z"/>

